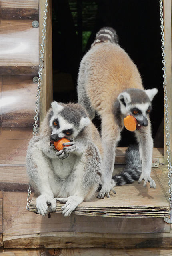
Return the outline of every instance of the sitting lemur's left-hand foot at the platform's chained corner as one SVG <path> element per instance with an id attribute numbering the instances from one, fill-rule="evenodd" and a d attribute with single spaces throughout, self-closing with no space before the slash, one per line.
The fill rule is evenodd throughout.
<path id="1" fill-rule="evenodd" d="M 50 196 L 40 195 L 36 199 L 36 207 L 38 209 L 38 213 L 45 216 L 48 213 L 48 210 L 50 210 L 50 212 L 54 212 L 56 210 L 56 200 Z"/>

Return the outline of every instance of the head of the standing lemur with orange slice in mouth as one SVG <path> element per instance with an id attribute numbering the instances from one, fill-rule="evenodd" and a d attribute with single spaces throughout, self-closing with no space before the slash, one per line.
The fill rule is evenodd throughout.
<path id="1" fill-rule="evenodd" d="M 142 126 L 148 126 L 148 114 L 151 111 L 151 102 L 158 90 L 129 89 L 118 96 L 121 112 L 124 116 L 132 115 L 136 118 L 138 125 L 136 130 Z"/>

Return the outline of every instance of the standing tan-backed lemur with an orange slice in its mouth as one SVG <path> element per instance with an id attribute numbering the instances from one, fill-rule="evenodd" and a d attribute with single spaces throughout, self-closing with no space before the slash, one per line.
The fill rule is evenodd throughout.
<path id="1" fill-rule="evenodd" d="M 93 119 L 95 112 L 102 120 L 103 184 L 98 197 L 108 197 L 112 188 L 112 172 L 115 162 L 115 148 L 124 128 L 127 115 L 136 118 L 135 135 L 139 143 L 142 173 L 138 182 L 144 179 L 144 186 L 156 188 L 152 180 L 151 124 L 149 112 L 151 102 L 158 92 L 156 88 L 144 90 L 136 65 L 118 45 L 118 36 L 112 28 L 102 28 L 91 49 L 80 63 L 78 74 L 78 102 L 84 106 Z"/>

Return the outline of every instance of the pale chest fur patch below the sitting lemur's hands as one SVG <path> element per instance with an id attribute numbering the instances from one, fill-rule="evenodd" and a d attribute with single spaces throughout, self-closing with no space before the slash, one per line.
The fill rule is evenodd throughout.
<path id="1" fill-rule="evenodd" d="M 54 168 L 54 172 L 61 180 L 66 180 L 66 178 L 68 178 L 68 176 L 74 169 L 76 158 L 77 156 L 72 154 L 72 156 L 69 156 L 64 160 L 52 159 L 52 166 Z"/>

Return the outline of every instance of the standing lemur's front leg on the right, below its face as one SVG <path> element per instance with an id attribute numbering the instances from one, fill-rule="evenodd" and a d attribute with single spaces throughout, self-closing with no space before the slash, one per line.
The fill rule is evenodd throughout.
<path id="1" fill-rule="evenodd" d="M 156 188 L 154 180 L 150 177 L 152 167 L 152 151 L 153 151 L 153 139 L 151 136 L 151 125 L 142 127 L 140 130 L 135 132 L 138 143 L 140 159 L 142 160 L 142 173 L 138 182 L 144 180 L 143 186 L 146 187 L 146 183 L 150 182 L 151 188 Z"/>

